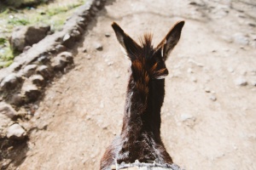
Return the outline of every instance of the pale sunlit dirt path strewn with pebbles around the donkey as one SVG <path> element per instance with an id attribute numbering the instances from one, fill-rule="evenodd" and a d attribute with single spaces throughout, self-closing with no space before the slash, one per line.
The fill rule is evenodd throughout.
<path id="1" fill-rule="evenodd" d="M 128 77 L 129 61 L 110 26 L 113 20 L 134 39 L 153 32 L 155 43 L 177 20 L 186 20 L 167 61 L 162 108 L 162 139 L 173 160 L 188 170 L 256 169 L 256 29 L 248 26 L 255 24 L 255 6 L 242 3 L 242 13 L 237 3 L 231 8 L 175 2 L 107 3 L 75 52 L 75 68 L 47 89 L 31 121 L 44 130 L 32 132 L 18 169 L 98 169 L 120 132 Z M 248 45 L 237 31 L 247 33 Z M 241 79 L 247 86 L 236 85 Z"/>

